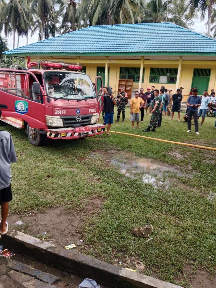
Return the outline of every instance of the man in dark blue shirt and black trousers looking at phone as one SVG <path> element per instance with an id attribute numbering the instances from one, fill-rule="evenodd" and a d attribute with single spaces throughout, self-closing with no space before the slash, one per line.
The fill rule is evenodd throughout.
<path id="1" fill-rule="evenodd" d="M 187 107 L 188 107 L 188 111 L 187 111 L 187 132 L 191 132 L 191 118 L 193 116 L 194 118 L 194 126 L 195 126 L 195 133 L 196 134 L 200 134 L 199 133 L 199 124 L 198 124 L 198 107 L 201 105 L 201 97 L 197 95 L 197 90 L 194 89 L 193 91 L 193 95 L 189 96 L 187 98 Z"/>

